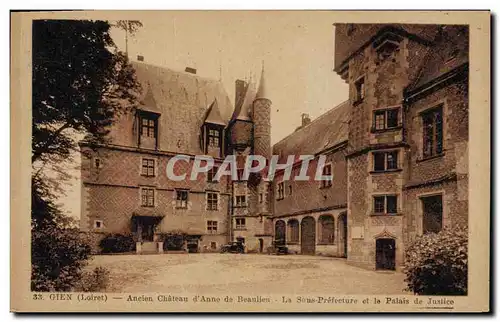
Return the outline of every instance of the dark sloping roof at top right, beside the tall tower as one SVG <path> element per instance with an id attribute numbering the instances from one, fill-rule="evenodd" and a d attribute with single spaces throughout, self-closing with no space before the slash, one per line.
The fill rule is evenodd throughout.
<path id="1" fill-rule="evenodd" d="M 469 33 L 464 26 L 446 26 L 423 60 L 408 91 L 416 90 L 469 61 Z"/>

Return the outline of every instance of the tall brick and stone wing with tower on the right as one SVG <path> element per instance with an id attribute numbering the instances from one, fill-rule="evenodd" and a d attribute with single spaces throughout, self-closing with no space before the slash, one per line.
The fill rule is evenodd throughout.
<path id="1" fill-rule="evenodd" d="M 354 265 L 375 269 L 391 253 L 391 266 L 401 268 L 405 246 L 424 233 L 426 196 L 438 196 L 442 228 L 467 225 L 463 31 L 463 26 L 336 25 L 336 70 L 349 83 L 351 105 L 347 213 L 348 261 Z M 442 130 L 432 138 L 440 142 L 433 146 L 439 153 L 424 157 L 423 115 L 436 106 L 442 106 Z M 376 169 L 375 158 L 384 153 L 395 153 L 396 161 L 391 169 Z"/>

